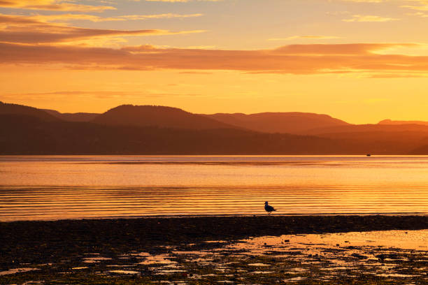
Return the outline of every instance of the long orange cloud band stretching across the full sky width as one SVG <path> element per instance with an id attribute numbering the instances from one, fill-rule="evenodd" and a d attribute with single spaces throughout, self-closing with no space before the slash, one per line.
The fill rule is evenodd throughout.
<path id="1" fill-rule="evenodd" d="M 411 43 L 285 45 L 273 50 L 201 50 L 151 45 L 120 49 L 0 44 L 1 64 L 62 64 L 69 68 L 123 70 L 229 70 L 249 73 L 427 73 L 428 57 L 379 54 Z"/>

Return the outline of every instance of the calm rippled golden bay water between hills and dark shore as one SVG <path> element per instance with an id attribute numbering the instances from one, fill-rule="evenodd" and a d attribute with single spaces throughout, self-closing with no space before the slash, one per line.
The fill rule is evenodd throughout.
<path id="1" fill-rule="evenodd" d="M 428 214 L 428 156 L 0 156 L 0 221 Z"/>

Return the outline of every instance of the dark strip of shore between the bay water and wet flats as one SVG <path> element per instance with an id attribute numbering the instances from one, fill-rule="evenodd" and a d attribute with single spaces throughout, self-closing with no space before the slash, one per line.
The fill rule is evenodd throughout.
<path id="1" fill-rule="evenodd" d="M 176 217 L 0 222 L 2 268 L 75 254 L 264 235 L 428 229 L 427 215 Z M 35 256 L 36 254 L 36 256 Z"/>

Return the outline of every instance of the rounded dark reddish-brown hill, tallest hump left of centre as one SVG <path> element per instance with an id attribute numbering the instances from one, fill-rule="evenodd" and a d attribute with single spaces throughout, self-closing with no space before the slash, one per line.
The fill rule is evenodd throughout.
<path id="1" fill-rule="evenodd" d="M 178 108 L 155 105 L 120 105 L 92 119 L 107 126 L 158 126 L 177 129 L 236 129 L 236 126 Z"/>

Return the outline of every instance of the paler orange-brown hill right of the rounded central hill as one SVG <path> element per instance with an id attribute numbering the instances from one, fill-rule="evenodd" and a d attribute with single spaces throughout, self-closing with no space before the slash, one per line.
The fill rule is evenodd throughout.
<path id="1" fill-rule="evenodd" d="M 204 115 L 217 121 L 264 133 L 306 134 L 307 131 L 328 126 L 347 126 L 347 122 L 329 115 L 306 112 L 262 112 Z"/>

